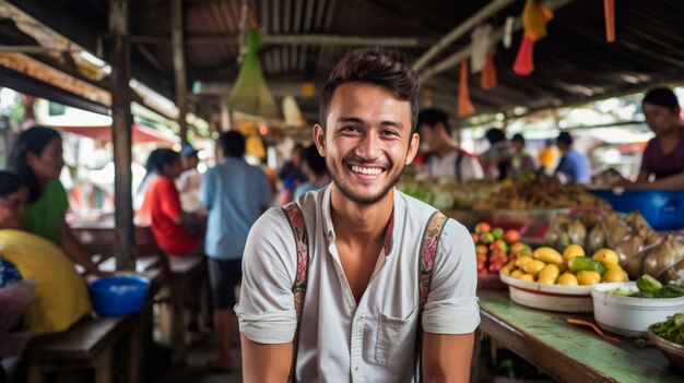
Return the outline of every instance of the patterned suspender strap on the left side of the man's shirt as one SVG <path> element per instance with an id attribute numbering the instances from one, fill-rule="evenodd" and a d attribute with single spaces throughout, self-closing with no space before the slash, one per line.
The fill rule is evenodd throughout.
<path id="1" fill-rule="evenodd" d="M 306 223 L 304 222 L 304 215 L 299 206 L 295 202 L 291 202 L 283 206 L 282 210 L 283 213 L 285 213 L 285 217 L 287 217 L 297 246 L 297 276 L 294 286 L 292 286 L 295 311 L 297 312 L 297 327 L 293 339 L 292 368 L 290 370 L 290 378 L 287 379 L 287 382 L 295 382 L 297 350 L 299 348 L 299 326 L 302 325 L 302 311 L 304 309 L 304 298 L 306 297 L 306 282 L 309 266 L 309 237 L 306 232 Z"/>

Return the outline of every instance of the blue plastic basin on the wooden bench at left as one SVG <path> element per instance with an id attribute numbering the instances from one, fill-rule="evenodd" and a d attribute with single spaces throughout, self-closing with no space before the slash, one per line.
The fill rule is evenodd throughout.
<path id="1" fill-rule="evenodd" d="M 93 308 L 98 315 L 125 315 L 145 304 L 150 279 L 140 276 L 104 277 L 89 285 Z"/>

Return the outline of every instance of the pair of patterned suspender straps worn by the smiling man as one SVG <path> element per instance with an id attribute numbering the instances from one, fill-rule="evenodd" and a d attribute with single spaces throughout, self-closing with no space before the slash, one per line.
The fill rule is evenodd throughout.
<path id="1" fill-rule="evenodd" d="M 292 287 L 295 300 L 295 311 L 297 313 L 297 327 L 294 336 L 294 347 L 292 355 L 292 367 L 290 369 L 290 378 L 287 382 L 295 382 L 295 373 L 297 369 L 297 350 L 299 348 L 299 326 L 302 325 L 302 312 L 304 309 L 304 298 L 306 296 L 306 282 L 308 277 L 309 266 L 309 239 L 306 231 L 306 223 L 304 222 L 304 215 L 302 210 L 295 202 L 291 202 L 282 207 L 283 213 L 287 217 L 290 227 L 295 237 L 297 246 L 297 276 L 295 284 Z M 435 266 L 435 255 L 437 254 L 437 248 L 439 244 L 439 237 L 441 237 L 441 230 L 447 222 L 447 217 L 440 212 L 435 212 L 429 217 L 425 231 L 423 231 L 423 240 L 421 242 L 421 259 L 418 262 L 418 326 L 416 332 L 416 345 L 415 345 L 415 366 L 416 374 L 420 376 L 420 381 L 423 380 L 421 370 L 421 351 L 423 339 L 423 309 L 425 302 L 427 302 L 427 296 L 429 295 L 429 286 L 433 282 L 433 267 Z"/>

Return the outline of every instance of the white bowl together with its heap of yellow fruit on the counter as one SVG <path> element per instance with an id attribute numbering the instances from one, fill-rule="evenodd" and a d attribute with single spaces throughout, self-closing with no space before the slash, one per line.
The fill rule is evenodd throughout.
<path id="1" fill-rule="evenodd" d="M 627 274 L 620 267 L 617 254 L 610 249 L 592 258 L 571 244 L 563 254 L 552 248 L 539 248 L 500 270 L 510 299 L 534 309 L 561 312 L 591 312 L 591 290 L 601 282 L 624 282 Z"/>

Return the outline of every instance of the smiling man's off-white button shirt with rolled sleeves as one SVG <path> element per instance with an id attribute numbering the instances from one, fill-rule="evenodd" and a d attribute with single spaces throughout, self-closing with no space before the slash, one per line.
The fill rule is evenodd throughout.
<path id="1" fill-rule="evenodd" d="M 335 248 L 330 187 L 302 195 L 309 268 L 299 332 L 296 381 L 412 382 L 418 320 L 418 249 L 435 208 L 394 189 L 391 248 L 385 249 L 356 303 Z M 271 208 L 249 232 L 236 313 L 240 332 L 260 344 L 293 340 L 292 287 L 296 247 L 281 208 Z M 476 262 L 470 234 L 448 219 L 435 259 L 423 328 L 469 334 L 480 323 Z"/>

